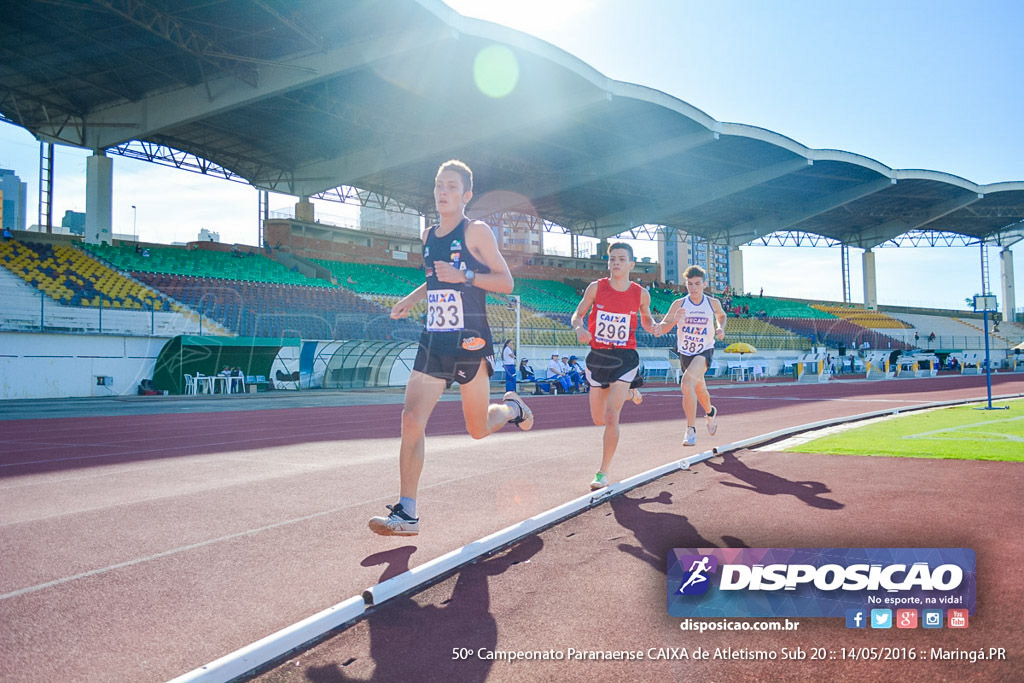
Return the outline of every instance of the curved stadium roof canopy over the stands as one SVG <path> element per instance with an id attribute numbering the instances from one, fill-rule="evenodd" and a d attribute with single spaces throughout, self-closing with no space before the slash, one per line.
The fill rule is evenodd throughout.
<path id="1" fill-rule="evenodd" d="M 459 158 L 476 213 L 595 237 L 1024 237 L 1024 182 L 894 170 L 715 121 L 438 0 L 12 2 L 0 53 L 0 116 L 41 140 L 162 145 L 289 195 L 350 185 L 429 215 L 433 173 Z M 481 91 L 513 77 L 504 96 Z"/>

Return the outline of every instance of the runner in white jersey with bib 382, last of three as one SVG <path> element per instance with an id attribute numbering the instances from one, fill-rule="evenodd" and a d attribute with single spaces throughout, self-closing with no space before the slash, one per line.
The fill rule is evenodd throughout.
<path id="1" fill-rule="evenodd" d="M 676 327 L 676 349 L 683 370 L 679 388 L 683 392 L 683 413 L 686 414 L 683 445 L 696 445 L 698 402 L 705 410 L 708 433 L 714 435 L 718 431 L 718 409 L 711 404 L 705 373 L 715 353 L 715 340 L 725 339 L 726 316 L 719 300 L 703 292 L 707 280 L 703 268 L 691 265 L 683 275 L 687 294 L 672 302 L 658 326 L 663 332 Z"/>

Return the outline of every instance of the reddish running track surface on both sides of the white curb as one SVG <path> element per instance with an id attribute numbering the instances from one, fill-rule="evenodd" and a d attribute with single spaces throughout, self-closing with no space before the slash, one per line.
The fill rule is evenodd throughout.
<path id="1" fill-rule="evenodd" d="M 678 445 L 678 393 L 652 392 L 642 407 L 626 407 L 611 474 L 622 478 L 785 426 L 981 397 L 984 391 L 979 377 L 716 388 L 721 427 L 714 439 L 701 433 L 695 450 Z M 994 391 L 1022 393 L 1024 379 L 997 377 Z M 415 539 L 385 539 L 366 529 L 367 519 L 394 499 L 397 405 L 3 423 L 3 679 L 171 678 L 578 497 L 600 460 L 601 430 L 587 424 L 587 399 L 540 397 L 531 404 L 538 413 L 534 431 L 507 428 L 484 441 L 465 436 L 458 403 L 438 405 L 421 485 L 423 532 Z M 938 477 L 929 480 L 926 493 L 940 493 L 926 498 L 930 505 L 912 507 L 910 515 L 902 496 L 907 479 L 900 472 L 914 467 L 915 477 Z M 668 639 L 678 646 L 678 625 L 665 615 L 664 564 L 665 551 L 680 545 L 991 544 L 989 552 L 1001 564 L 999 544 L 1009 539 L 991 531 L 984 507 L 958 501 L 974 500 L 962 490 L 970 482 L 982 501 L 987 495 L 999 504 L 1000 518 L 1019 524 L 1020 512 L 1007 499 L 1019 500 L 1019 471 L 1007 463 L 766 454 L 698 466 L 460 572 L 407 601 L 407 608 L 416 605 L 414 612 L 401 605 L 378 610 L 302 655 L 300 666 L 268 676 L 633 677 L 633 670 L 593 663 L 566 670 L 480 663 L 453 669 L 441 645 L 471 632 L 496 646 L 620 649 L 636 639 L 651 645 Z M 910 492 L 914 500 L 923 495 L 912 486 Z M 945 510 L 950 517 L 939 514 Z M 537 570 L 527 574 L 526 566 Z M 981 577 L 996 581 L 985 579 L 996 573 Z M 511 582 L 507 588 L 489 587 L 505 582 Z M 979 595 L 996 597 L 994 589 L 983 588 Z M 1024 598 L 1020 588 L 1002 588 L 1018 602 Z M 436 622 L 444 628 L 431 627 L 431 637 L 402 658 L 403 642 L 415 641 L 411 634 L 423 633 L 441 614 L 456 618 Z M 821 627 L 806 628 L 813 634 Z M 971 637 L 988 632 L 970 631 Z M 1014 638 L 1020 667 L 1020 637 Z M 334 645 L 340 649 L 330 649 Z M 438 664 L 445 660 L 447 667 Z M 423 673 L 420 667 L 427 664 L 437 667 L 430 669 L 436 676 Z M 641 668 L 635 675 L 677 671 Z M 723 676 L 714 669 L 685 671 Z M 733 674 L 755 676 L 757 670 Z"/>

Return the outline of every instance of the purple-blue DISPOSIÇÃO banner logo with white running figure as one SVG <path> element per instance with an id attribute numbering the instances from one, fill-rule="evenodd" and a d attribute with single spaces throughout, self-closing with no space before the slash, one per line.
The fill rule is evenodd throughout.
<path id="1" fill-rule="evenodd" d="M 896 608 L 975 607 L 969 548 L 676 548 L 668 560 L 673 616 L 845 616 L 862 628 L 860 612 L 893 628 Z"/>

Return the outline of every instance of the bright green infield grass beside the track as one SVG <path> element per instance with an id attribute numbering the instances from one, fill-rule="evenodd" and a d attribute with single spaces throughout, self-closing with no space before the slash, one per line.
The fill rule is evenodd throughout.
<path id="1" fill-rule="evenodd" d="M 1024 401 L 907 413 L 785 449 L 791 453 L 1024 462 Z"/>

